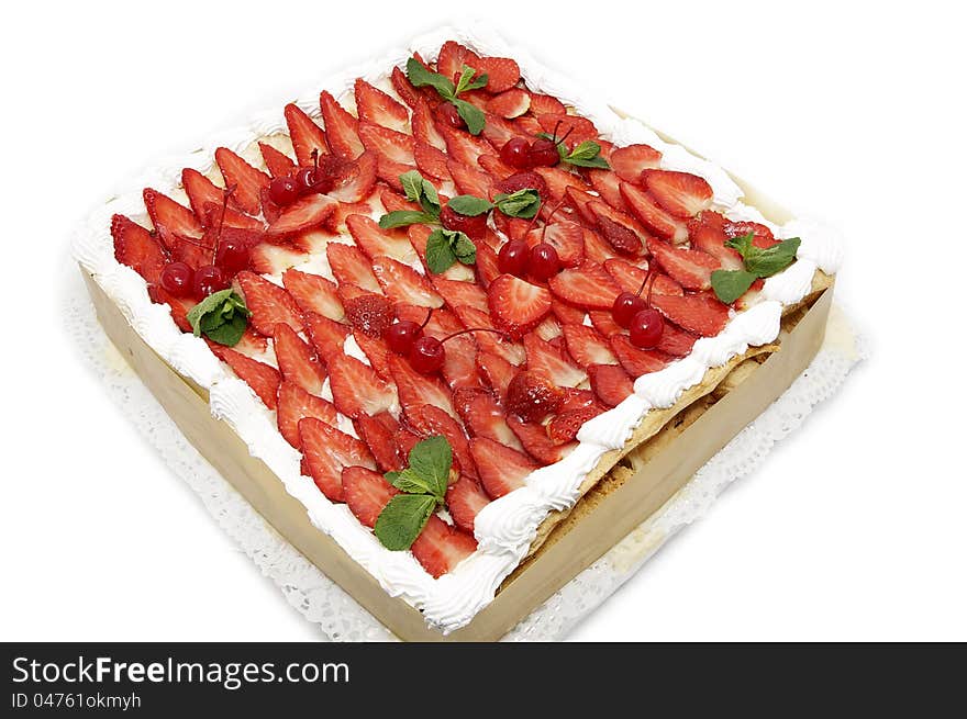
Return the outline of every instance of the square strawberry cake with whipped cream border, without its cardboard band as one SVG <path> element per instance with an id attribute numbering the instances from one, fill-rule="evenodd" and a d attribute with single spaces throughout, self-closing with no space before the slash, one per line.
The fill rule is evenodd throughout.
<path id="1" fill-rule="evenodd" d="M 446 29 L 221 136 L 76 243 L 133 329 L 444 633 L 832 285 L 822 226 Z"/>

